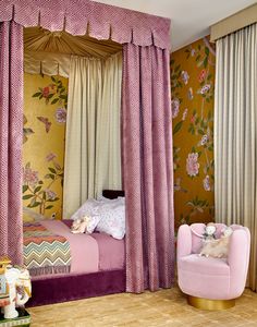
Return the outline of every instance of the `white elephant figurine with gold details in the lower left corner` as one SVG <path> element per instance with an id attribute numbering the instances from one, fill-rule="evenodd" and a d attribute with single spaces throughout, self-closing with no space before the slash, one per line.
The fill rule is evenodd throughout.
<path id="1" fill-rule="evenodd" d="M 24 305 L 32 296 L 30 276 L 27 269 L 12 266 L 7 257 L 0 258 L 0 306 L 4 319 L 13 319 L 19 317 L 15 306 Z"/>

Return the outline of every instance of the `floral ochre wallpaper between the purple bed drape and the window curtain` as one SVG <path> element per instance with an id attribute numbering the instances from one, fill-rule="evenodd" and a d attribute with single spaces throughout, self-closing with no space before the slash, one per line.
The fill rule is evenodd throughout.
<path id="1" fill-rule="evenodd" d="M 171 53 L 175 226 L 213 220 L 215 47 Z"/>

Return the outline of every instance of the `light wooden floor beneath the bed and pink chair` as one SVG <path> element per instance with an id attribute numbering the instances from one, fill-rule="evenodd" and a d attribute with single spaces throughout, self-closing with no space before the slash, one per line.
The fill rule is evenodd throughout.
<path id="1" fill-rule="evenodd" d="M 246 290 L 227 311 L 187 305 L 178 288 L 144 294 L 117 294 L 28 308 L 33 327 L 242 326 L 257 327 L 257 293 Z"/>

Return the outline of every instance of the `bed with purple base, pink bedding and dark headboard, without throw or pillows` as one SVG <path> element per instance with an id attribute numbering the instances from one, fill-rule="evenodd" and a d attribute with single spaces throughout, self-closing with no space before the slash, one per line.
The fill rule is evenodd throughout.
<path id="1" fill-rule="evenodd" d="M 124 196 L 122 191 L 105 191 L 103 196 Z M 42 221 L 53 233 L 64 237 L 72 253 L 68 274 L 33 276 L 33 296 L 27 306 L 53 304 L 125 291 L 125 241 L 105 233 L 74 235 L 71 220 Z M 78 237 L 79 241 L 74 238 Z M 96 253 L 97 249 L 97 253 Z M 97 257 L 97 259 L 96 259 Z"/>

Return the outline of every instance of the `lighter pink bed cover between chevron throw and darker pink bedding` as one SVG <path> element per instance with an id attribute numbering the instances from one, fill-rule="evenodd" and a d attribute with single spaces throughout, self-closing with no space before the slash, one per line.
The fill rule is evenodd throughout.
<path id="1" fill-rule="evenodd" d="M 99 250 L 94 238 L 88 234 L 73 234 L 60 220 L 44 220 L 41 225 L 69 241 L 72 254 L 71 274 L 98 271 Z"/>

